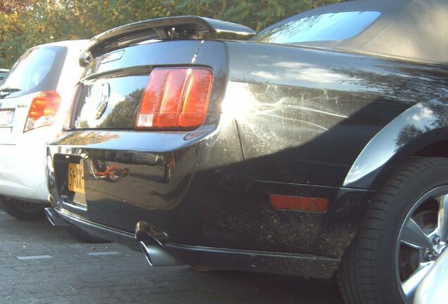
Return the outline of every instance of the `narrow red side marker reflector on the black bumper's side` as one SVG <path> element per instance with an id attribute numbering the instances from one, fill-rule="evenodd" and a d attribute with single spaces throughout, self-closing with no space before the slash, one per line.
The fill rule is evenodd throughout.
<path id="1" fill-rule="evenodd" d="M 281 210 L 324 212 L 328 208 L 328 199 L 271 194 L 270 205 Z"/>

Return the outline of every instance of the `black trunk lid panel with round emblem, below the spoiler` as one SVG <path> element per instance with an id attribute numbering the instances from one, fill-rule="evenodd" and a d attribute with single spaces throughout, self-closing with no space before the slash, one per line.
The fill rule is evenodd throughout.
<path id="1" fill-rule="evenodd" d="M 154 42 L 115 51 L 120 58 L 113 61 L 108 56 L 94 59 L 87 66 L 90 74 L 77 88 L 72 128 L 135 129 L 151 71 L 160 66 L 192 65 L 200 45 L 199 41 Z"/>

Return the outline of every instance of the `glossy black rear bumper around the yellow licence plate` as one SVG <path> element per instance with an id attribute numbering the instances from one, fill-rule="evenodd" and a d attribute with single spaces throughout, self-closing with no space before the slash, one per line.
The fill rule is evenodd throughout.
<path id="1" fill-rule="evenodd" d="M 144 224 L 151 239 L 186 264 L 330 277 L 371 193 L 251 179 L 233 122 L 194 132 L 66 133 L 48 148 L 52 206 L 85 231 L 134 248 L 142 241 L 137 224 Z M 84 164 L 87 206 L 67 189 L 68 163 Z M 129 174 L 110 182 L 93 176 L 92 164 Z M 271 194 L 331 203 L 325 213 L 275 210 Z"/>

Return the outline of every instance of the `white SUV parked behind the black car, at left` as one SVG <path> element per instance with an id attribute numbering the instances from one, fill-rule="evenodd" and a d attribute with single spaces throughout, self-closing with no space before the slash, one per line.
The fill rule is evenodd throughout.
<path id="1" fill-rule="evenodd" d="M 44 218 L 46 142 L 63 129 L 87 40 L 35 46 L 0 85 L 0 201 L 20 220 Z"/>

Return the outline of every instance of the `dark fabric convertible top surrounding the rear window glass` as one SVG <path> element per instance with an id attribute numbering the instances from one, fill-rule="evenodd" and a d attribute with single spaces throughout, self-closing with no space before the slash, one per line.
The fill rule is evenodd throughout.
<path id="1" fill-rule="evenodd" d="M 294 15 L 259 34 L 301 18 L 346 11 L 376 11 L 380 17 L 349 39 L 297 44 L 448 64 L 447 0 L 347 1 Z"/>

